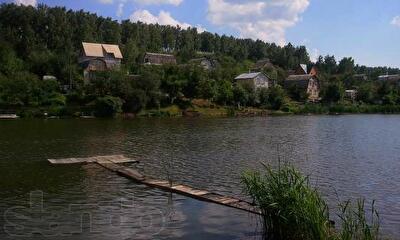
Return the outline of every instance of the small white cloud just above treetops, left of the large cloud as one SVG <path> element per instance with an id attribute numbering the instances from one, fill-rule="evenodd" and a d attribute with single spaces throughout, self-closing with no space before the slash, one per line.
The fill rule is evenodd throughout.
<path id="1" fill-rule="evenodd" d="M 179 22 L 174 19 L 169 12 L 161 11 L 158 16 L 151 14 L 147 10 L 138 10 L 129 17 L 131 22 L 143 22 L 148 24 L 160 24 L 170 26 L 180 26 L 183 29 L 192 27 L 189 23 Z M 204 32 L 205 29 L 200 25 L 196 26 L 198 32 Z"/>

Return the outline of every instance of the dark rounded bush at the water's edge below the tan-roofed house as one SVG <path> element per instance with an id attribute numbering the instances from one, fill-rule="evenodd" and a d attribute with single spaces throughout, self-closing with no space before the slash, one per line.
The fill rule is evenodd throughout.
<path id="1" fill-rule="evenodd" d="M 122 100 L 118 97 L 105 96 L 96 99 L 95 116 L 96 117 L 114 117 L 122 112 Z"/>

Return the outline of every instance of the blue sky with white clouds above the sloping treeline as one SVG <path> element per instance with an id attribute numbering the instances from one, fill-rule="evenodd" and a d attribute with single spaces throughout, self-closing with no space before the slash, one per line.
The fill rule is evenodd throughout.
<path id="1" fill-rule="evenodd" d="M 115 20 L 305 45 L 312 60 L 400 67 L 400 0 L 0 0 L 65 6 Z"/>

